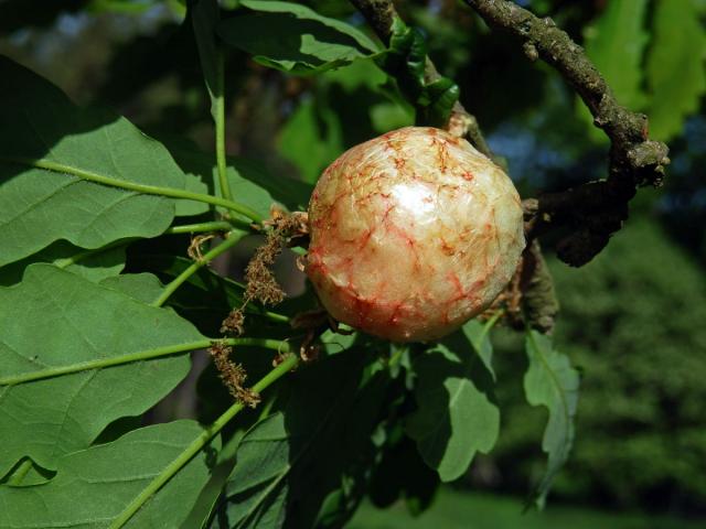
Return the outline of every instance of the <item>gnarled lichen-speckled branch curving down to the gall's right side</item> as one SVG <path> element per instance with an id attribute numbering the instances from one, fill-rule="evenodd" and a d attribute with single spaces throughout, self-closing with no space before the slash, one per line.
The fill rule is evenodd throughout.
<path id="1" fill-rule="evenodd" d="M 670 163 L 667 147 L 648 138 L 648 117 L 620 106 L 596 66 L 549 18 L 538 19 L 507 0 L 466 0 L 492 28 L 523 41 L 531 61 L 552 65 L 571 85 L 611 142 L 608 179 L 561 193 L 525 201 L 526 234 L 531 239 L 555 226 L 571 233 L 558 245 L 559 258 L 580 267 L 608 244 L 628 218 L 628 203 L 637 188 L 659 186 Z"/>

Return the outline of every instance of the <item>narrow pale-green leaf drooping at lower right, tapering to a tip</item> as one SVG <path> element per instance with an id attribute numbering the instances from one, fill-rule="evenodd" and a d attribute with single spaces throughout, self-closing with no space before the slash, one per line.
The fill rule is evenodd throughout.
<path id="1" fill-rule="evenodd" d="M 548 336 L 531 330 L 525 347 L 530 358 L 524 379 L 527 402 L 544 406 L 549 411 L 542 439 L 542 450 L 548 454 L 549 461 L 533 498 L 538 507 L 543 507 L 552 481 L 568 458 L 574 442 L 579 375 L 568 357 L 554 349 Z"/>

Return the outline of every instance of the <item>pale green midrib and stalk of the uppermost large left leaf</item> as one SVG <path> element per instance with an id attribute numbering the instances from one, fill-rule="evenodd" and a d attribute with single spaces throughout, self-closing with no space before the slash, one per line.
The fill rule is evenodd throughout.
<path id="1" fill-rule="evenodd" d="M 178 190 L 175 187 L 161 187 L 158 185 L 138 184 L 125 180 L 113 179 L 110 176 L 105 176 L 103 174 L 94 173 L 90 171 L 84 171 L 83 169 L 73 168 L 63 163 L 50 162 L 49 160 L 31 160 L 26 158 L 9 156 L 0 156 L 0 159 L 9 162 L 22 163 L 33 168 L 46 169 L 47 171 L 54 171 L 56 173 L 71 174 L 73 176 L 78 176 L 79 179 L 96 182 L 98 184 L 109 185 L 111 187 L 120 187 L 122 190 L 136 191 L 146 195 L 169 196 L 172 198 L 184 198 L 189 201 L 204 202 L 206 204 L 213 204 L 214 206 L 223 206 L 231 209 L 232 212 L 238 213 L 249 218 L 254 223 L 263 222 L 263 217 L 260 216 L 260 214 L 258 214 L 254 209 L 250 209 L 248 206 L 228 201 L 226 198 L 222 198 L 220 196 L 192 193 L 191 191 Z"/>

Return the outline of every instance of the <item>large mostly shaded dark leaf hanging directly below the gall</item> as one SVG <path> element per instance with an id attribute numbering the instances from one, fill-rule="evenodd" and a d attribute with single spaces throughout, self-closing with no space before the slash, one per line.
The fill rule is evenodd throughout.
<path id="1" fill-rule="evenodd" d="M 363 350 L 327 357 L 295 375 L 284 409 L 240 441 L 220 516 L 228 527 L 341 527 L 357 505 L 362 469 L 388 378 Z M 320 514 L 321 504 L 327 505 Z"/>

